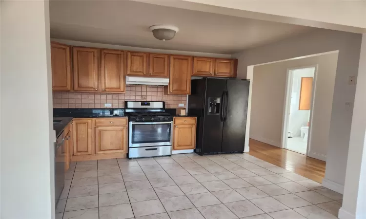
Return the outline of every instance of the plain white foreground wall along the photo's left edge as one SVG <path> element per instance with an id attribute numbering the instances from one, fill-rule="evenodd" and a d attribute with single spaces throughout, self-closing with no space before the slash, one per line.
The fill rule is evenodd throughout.
<path id="1" fill-rule="evenodd" d="M 0 218 L 52 219 L 55 136 L 48 1 L 1 1 L 0 16 Z"/>

